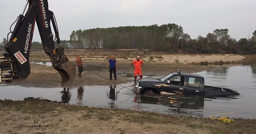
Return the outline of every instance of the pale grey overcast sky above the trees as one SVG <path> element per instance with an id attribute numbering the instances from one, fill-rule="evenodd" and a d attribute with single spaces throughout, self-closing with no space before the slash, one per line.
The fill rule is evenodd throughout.
<path id="1" fill-rule="evenodd" d="M 256 0 L 48 0 L 60 39 L 73 30 L 175 23 L 192 39 L 228 28 L 231 37 L 252 36 L 256 30 Z M 22 13 L 26 0 L 0 0 L 0 42 Z M 14 26 L 12 26 L 12 29 Z M 53 31 L 53 29 L 52 29 Z M 10 35 L 9 35 L 10 37 Z M 37 27 L 33 41 L 41 41 Z"/>

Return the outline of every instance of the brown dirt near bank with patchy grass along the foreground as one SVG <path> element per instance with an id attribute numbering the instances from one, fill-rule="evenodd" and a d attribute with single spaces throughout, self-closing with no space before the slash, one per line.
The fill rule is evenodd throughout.
<path id="1" fill-rule="evenodd" d="M 256 120 L 224 123 L 143 112 L 64 105 L 38 99 L 1 101 L 0 134 L 254 134 Z"/>

